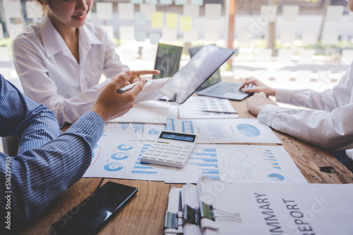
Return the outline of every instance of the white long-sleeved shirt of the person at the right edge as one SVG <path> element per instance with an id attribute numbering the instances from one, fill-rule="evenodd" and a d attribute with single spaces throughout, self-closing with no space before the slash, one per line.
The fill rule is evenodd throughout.
<path id="1" fill-rule="evenodd" d="M 353 160 L 353 63 L 333 89 L 277 89 L 276 99 L 311 110 L 267 105 L 258 114 L 260 122 L 324 148 L 346 149 Z"/>

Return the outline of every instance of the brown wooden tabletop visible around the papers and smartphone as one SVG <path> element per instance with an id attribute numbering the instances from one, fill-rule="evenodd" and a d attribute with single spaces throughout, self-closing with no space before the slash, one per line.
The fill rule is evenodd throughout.
<path id="1" fill-rule="evenodd" d="M 247 110 L 245 101 L 232 101 L 232 104 L 239 112 L 240 118 L 255 118 Z M 275 134 L 309 183 L 353 183 L 353 173 L 328 151 L 306 144 L 287 134 L 277 131 Z M 172 186 L 181 187 L 183 184 L 103 178 L 80 179 L 68 191 L 56 198 L 38 220 L 25 228 L 23 234 L 49 234 L 51 224 L 108 181 L 134 186 L 138 188 L 138 193 L 118 215 L 112 217 L 99 234 L 163 234 L 164 212 L 167 210 L 169 189 Z"/>

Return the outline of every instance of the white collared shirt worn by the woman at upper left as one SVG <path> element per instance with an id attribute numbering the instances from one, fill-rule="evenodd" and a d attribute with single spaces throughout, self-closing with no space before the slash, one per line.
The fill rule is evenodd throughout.
<path id="1" fill-rule="evenodd" d="M 24 93 L 52 110 L 62 127 L 87 112 L 110 77 L 129 70 L 101 27 L 85 23 L 78 30 L 80 63 L 76 61 L 48 15 L 28 26 L 13 41 L 13 61 Z M 101 75 L 108 79 L 98 84 Z M 159 99 L 166 79 L 145 84 L 136 102 Z"/>

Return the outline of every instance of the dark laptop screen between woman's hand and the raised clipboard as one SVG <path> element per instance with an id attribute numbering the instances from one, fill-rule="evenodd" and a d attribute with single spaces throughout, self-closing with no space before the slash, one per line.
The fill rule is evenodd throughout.
<path id="1" fill-rule="evenodd" d="M 172 77 L 179 70 L 182 46 L 158 44 L 155 57 L 155 70 L 160 70 L 159 75 L 153 75 L 152 79 Z"/>

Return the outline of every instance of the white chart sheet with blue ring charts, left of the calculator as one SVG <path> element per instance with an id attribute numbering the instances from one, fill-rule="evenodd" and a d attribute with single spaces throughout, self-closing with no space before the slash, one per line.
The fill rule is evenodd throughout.
<path id="1" fill-rule="evenodd" d="M 175 168 L 140 163 L 140 155 L 153 142 L 99 141 L 83 177 L 166 181 L 174 179 Z"/>

